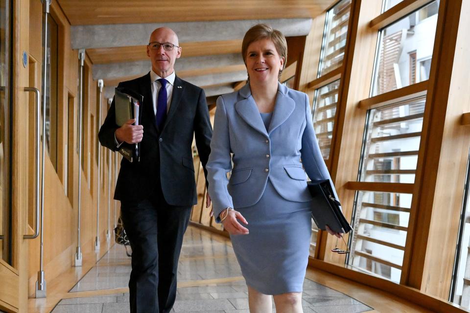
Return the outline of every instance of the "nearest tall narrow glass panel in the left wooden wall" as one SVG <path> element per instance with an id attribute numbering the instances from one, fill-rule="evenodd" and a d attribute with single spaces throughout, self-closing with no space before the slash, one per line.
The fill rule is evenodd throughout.
<path id="1" fill-rule="evenodd" d="M 54 166 L 56 171 L 58 40 L 59 27 L 54 21 L 54 19 L 49 15 L 47 19 L 46 149 L 47 153 L 49 154 L 50 161 L 52 162 L 52 165 Z"/>

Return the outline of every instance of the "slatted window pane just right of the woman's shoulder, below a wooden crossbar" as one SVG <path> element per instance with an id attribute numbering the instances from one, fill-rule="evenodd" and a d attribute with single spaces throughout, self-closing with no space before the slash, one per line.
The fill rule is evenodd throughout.
<path id="1" fill-rule="evenodd" d="M 329 158 L 331 138 L 333 136 L 334 115 L 338 102 L 339 80 L 315 90 L 313 99 L 313 128 L 325 160 Z"/>

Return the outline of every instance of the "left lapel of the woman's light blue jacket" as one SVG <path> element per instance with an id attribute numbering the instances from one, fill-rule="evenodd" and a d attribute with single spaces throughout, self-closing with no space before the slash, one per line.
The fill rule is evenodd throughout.
<path id="1" fill-rule="evenodd" d="M 259 110 L 256 106 L 255 100 L 251 95 L 250 84 L 247 83 L 239 91 L 240 96 L 243 97 L 240 101 L 235 103 L 235 110 L 241 116 L 241 118 L 259 133 L 268 136 L 266 127 L 264 127 L 263 120 L 259 114 Z"/>

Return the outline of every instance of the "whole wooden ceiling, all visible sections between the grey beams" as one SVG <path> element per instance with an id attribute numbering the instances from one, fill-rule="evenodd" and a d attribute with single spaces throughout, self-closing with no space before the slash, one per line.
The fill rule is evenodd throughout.
<path id="1" fill-rule="evenodd" d="M 276 20 L 314 18 L 325 12 L 337 0 L 57 0 L 71 25 L 145 24 L 169 22 L 217 22 L 237 20 Z M 203 23 L 202 23 L 203 24 Z M 188 26 L 189 27 L 189 26 Z M 183 27 L 184 29 L 184 27 Z M 202 26 L 200 33 L 204 32 Z M 180 30 L 181 31 L 181 30 Z M 202 33 L 204 34 L 204 33 Z M 125 36 L 125 34 L 123 34 Z M 182 57 L 232 54 L 241 52 L 241 39 L 180 42 Z M 89 48 L 86 50 L 91 62 L 97 64 L 121 63 L 122 77 L 105 79 L 105 86 L 135 78 L 129 76 L 124 64 L 148 60 L 145 45 Z M 150 64 L 149 64 L 150 65 Z M 221 66 L 179 70 L 178 76 L 194 77 L 223 74 L 238 77 L 243 65 Z M 225 85 L 227 83 L 224 83 Z M 215 87 L 218 85 L 213 85 Z M 202 86 L 201 86 L 202 87 Z M 208 87 L 208 86 L 206 86 Z"/>

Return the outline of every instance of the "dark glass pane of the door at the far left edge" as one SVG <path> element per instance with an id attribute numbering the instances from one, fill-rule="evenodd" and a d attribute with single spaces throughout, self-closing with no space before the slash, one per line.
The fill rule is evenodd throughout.
<path id="1" fill-rule="evenodd" d="M 11 263 L 11 21 L 0 0 L 0 259 Z"/>

